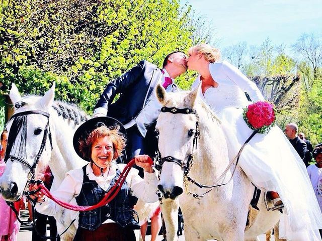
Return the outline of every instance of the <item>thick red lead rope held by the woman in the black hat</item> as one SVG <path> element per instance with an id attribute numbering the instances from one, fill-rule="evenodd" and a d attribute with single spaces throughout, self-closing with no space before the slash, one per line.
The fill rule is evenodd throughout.
<path id="1" fill-rule="evenodd" d="M 153 164 L 153 161 L 151 158 L 148 159 L 148 163 L 150 163 L 151 165 Z M 124 168 L 123 172 L 121 173 L 119 179 L 116 181 L 115 185 L 105 194 L 105 196 L 103 197 L 103 199 L 93 205 L 93 206 L 77 206 L 77 205 L 72 205 L 70 203 L 66 203 L 63 201 L 60 201 L 59 199 L 57 199 L 56 197 L 54 197 L 49 190 L 41 183 L 38 185 L 39 188 L 41 188 L 41 192 L 48 198 L 50 198 L 51 200 L 53 200 L 55 203 L 57 203 L 58 205 L 70 209 L 70 210 L 74 210 L 74 211 L 90 211 L 99 207 L 102 207 L 106 204 L 108 204 L 109 202 L 111 202 L 114 197 L 118 194 L 118 192 L 121 190 L 121 187 L 127 177 L 127 175 L 129 174 L 130 169 L 133 167 L 133 165 L 135 164 L 135 160 L 132 159 Z"/>

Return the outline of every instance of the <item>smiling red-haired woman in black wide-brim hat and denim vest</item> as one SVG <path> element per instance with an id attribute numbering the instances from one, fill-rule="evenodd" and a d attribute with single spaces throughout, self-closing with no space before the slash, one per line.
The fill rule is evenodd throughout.
<path id="1" fill-rule="evenodd" d="M 114 162 L 122 155 L 125 138 L 124 127 L 111 117 L 96 117 L 82 124 L 74 134 L 73 145 L 76 153 L 89 164 L 67 172 L 53 195 L 65 202 L 75 197 L 79 206 L 97 204 L 113 187 L 125 167 Z M 135 240 L 133 229 L 140 227 L 129 207 L 129 194 L 145 202 L 157 201 L 157 178 L 148 158 L 147 155 L 135 156 L 135 164 L 144 169 L 143 179 L 136 169 L 131 169 L 120 192 L 108 205 L 79 212 L 74 240 Z M 41 202 L 36 205 L 38 212 L 54 215 L 62 208 L 45 199 L 41 193 L 36 195 L 40 195 Z"/>

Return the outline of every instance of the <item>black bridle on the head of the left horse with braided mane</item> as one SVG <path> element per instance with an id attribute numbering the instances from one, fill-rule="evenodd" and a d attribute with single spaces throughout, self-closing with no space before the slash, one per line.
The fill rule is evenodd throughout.
<path id="1" fill-rule="evenodd" d="M 12 115 L 9 121 L 12 121 L 17 116 L 23 116 L 23 115 L 29 115 L 29 114 L 42 114 L 42 115 L 44 115 L 44 116 L 47 117 L 47 124 L 46 124 L 46 127 L 44 129 L 44 135 L 43 135 L 42 143 L 40 145 L 40 149 L 39 149 L 38 154 L 36 156 L 36 160 L 34 161 L 33 165 L 30 165 L 26 160 L 24 160 L 22 158 L 19 158 L 19 157 L 15 156 L 15 155 L 10 155 L 10 152 L 11 151 L 10 152 L 7 152 L 6 153 L 6 156 L 5 156 L 5 162 L 7 162 L 8 159 L 11 159 L 12 162 L 13 161 L 18 161 L 18 162 L 22 163 L 23 165 L 25 165 L 26 167 L 28 167 L 28 169 L 30 171 L 28 173 L 28 176 L 29 177 L 28 177 L 28 181 L 27 181 L 26 186 L 28 185 L 29 180 L 34 178 L 35 169 L 37 167 L 37 164 L 39 162 L 39 159 L 41 157 L 41 154 L 42 154 L 42 152 L 43 152 L 43 150 L 45 148 L 46 141 L 47 141 L 47 137 L 49 137 L 50 148 L 51 148 L 51 150 L 53 149 L 52 148 L 52 139 L 51 139 L 50 126 L 49 126 L 49 113 L 48 112 L 41 111 L 41 110 L 28 110 L 28 111 L 23 111 L 23 112 L 19 112 L 19 113 L 16 113 L 16 114 Z M 13 127 L 11 127 L 11 128 L 13 128 Z"/>

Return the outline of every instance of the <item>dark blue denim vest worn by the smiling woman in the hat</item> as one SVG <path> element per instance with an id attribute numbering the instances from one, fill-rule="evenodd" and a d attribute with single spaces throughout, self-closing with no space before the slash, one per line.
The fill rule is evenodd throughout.
<path id="1" fill-rule="evenodd" d="M 106 191 L 96 181 L 89 179 L 86 174 L 86 166 L 83 167 L 83 185 L 81 192 L 75 198 L 78 206 L 95 205 L 106 194 Z M 114 186 L 120 174 L 120 170 L 117 169 L 116 176 L 112 179 L 109 189 Z M 133 218 L 133 212 L 135 211 L 129 208 L 128 195 L 129 187 L 127 182 L 124 181 L 121 190 L 110 203 L 91 211 L 79 212 L 78 226 L 89 230 L 96 230 L 105 220 L 112 219 L 121 227 L 131 225 L 133 229 L 139 227 L 137 221 Z"/>

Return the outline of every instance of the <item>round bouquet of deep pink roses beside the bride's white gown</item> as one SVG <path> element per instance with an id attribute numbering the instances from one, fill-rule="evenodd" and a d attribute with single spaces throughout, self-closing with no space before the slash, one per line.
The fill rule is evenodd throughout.
<path id="1" fill-rule="evenodd" d="M 252 130 L 267 133 L 275 124 L 274 105 L 267 101 L 257 101 L 244 108 L 244 119 Z"/>

